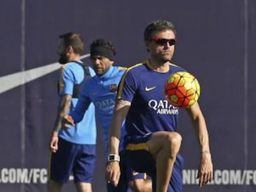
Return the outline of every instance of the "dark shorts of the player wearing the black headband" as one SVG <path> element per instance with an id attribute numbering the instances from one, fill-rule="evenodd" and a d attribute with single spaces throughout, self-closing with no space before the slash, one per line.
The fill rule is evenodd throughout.
<path id="1" fill-rule="evenodd" d="M 120 152 L 120 171 L 121 171 L 121 175 L 119 178 L 119 183 L 118 185 L 115 187 L 112 184 L 108 183 L 107 184 L 107 189 L 108 192 L 127 192 L 128 188 L 129 188 L 129 182 L 135 179 L 148 179 L 149 176 L 147 175 L 147 173 L 139 173 L 139 172 L 135 172 L 134 169 L 127 167 L 126 165 L 126 159 L 124 158 L 123 152 Z"/>

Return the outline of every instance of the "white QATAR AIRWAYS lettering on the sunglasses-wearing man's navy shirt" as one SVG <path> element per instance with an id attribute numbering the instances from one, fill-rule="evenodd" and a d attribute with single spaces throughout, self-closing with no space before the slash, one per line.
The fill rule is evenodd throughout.
<path id="1" fill-rule="evenodd" d="M 156 101 L 155 99 L 151 99 L 148 101 L 148 106 L 151 109 L 156 111 L 156 114 L 163 114 L 163 115 L 177 115 L 179 114 L 179 108 L 174 107 L 171 105 L 167 100 Z"/>

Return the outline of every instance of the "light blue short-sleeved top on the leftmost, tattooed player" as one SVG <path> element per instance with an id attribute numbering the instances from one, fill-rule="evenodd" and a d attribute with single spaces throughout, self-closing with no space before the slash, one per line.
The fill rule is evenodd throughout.
<path id="1" fill-rule="evenodd" d="M 82 65 L 82 61 L 79 61 Z M 59 73 L 59 102 L 63 94 L 73 94 L 74 85 L 80 84 L 84 79 L 83 68 L 77 62 L 69 62 L 62 65 Z M 91 76 L 95 75 L 89 67 Z M 70 111 L 72 112 L 77 105 L 77 98 L 72 98 Z M 59 103 L 60 107 L 60 103 Z M 69 129 L 61 128 L 59 136 L 64 140 L 77 144 L 96 144 L 96 122 L 95 107 L 93 104 L 88 107 L 87 114 L 81 118 L 80 123 Z"/>

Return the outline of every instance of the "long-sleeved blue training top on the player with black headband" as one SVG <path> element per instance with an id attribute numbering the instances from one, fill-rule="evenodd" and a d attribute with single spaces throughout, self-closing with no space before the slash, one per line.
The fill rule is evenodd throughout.
<path id="1" fill-rule="evenodd" d="M 111 66 L 104 75 L 95 75 L 88 79 L 81 88 L 78 104 L 75 107 L 75 111 L 71 114 L 75 122 L 79 122 L 87 110 L 88 105 L 91 102 L 95 104 L 96 115 L 103 128 L 103 139 L 107 153 L 109 126 L 116 102 L 117 86 L 125 70 L 126 68 L 124 67 Z M 122 128 L 121 141 L 124 135 L 125 129 Z"/>

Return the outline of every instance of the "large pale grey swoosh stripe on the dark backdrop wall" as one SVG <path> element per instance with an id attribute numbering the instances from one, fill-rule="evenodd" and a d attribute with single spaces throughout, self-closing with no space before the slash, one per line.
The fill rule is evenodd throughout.
<path id="1" fill-rule="evenodd" d="M 89 57 L 90 54 L 85 54 L 80 57 L 80 59 L 85 59 Z M 30 81 L 35 80 L 36 78 L 43 77 L 48 75 L 55 70 L 60 68 L 60 64 L 55 62 L 53 64 L 45 65 L 42 67 L 36 67 L 35 69 L 25 70 L 22 72 L 12 73 L 10 75 L 5 75 L 0 77 L 0 93 L 9 91 L 17 86 L 24 85 Z"/>

